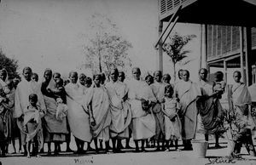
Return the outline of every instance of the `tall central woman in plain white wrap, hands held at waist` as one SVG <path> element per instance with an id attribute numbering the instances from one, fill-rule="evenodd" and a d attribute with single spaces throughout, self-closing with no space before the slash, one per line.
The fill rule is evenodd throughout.
<path id="1" fill-rule="evenodd" d="M 133 80 L 128 83 L 128 99 L 131 104 L 132 135 L 136 145 L 136 152 L 139 152 L 138 142 L 142 141 L 142 151 L 145 151 L 145 139 L 155 134 L 155 120 L 151 106 L 156 99 L 147 83 L 140 80 L 141 71 L 139 68 L 132 69 Z M 143 110 L 143 103 L 147 102 L 147 110 Z"/>

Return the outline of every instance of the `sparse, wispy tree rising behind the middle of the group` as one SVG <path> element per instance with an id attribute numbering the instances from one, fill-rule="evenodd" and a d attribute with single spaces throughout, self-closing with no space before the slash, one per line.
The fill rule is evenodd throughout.
<path id="1" fill-rule="evenodd" d="M 99 20 L 100 17 L 100 20 Z M 84 45 L 85 62 L 84 68 L 92 72 L 109 72 L 111 68 L 125 70 L 131 67 L 131 60 L 128 54 L 132 48 L 130 42 L 125 40 L 116 31 L 115 24 L 100 14 L 92 17 L 91 28 L 96 31 L 95 36 L 90 37 L 88 44 Z"/>

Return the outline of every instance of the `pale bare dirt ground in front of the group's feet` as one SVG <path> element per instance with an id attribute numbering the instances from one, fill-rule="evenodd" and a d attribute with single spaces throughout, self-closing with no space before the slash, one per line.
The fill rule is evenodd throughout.
<path id="1" fill-rule="evenodd" d="M 181 142 L 180 142 L 181 143 Z M 134 153 L 133 150 L 126 150 L 125 153 L 107 153 L 95 154 L 88 152 L 83 155 L 75 155 L 73 153 L 61 152 L 59 156 L 46 156 L 26 158 L 21 154 L 8 154 L 7 157 L 1 158 L 3 165 L 175 165 L 175 164 L 250 164 L 256 165 L 256 157 L 248 156 L 246 149 L 241 149 L 241 157 L 230 160 L 227 157 L 228 142 L 225 139 L 220 140 L 221 149 L 215 149 L 214 140 L 210 140 L 210 148 L 207 150 L 206 158 L 197 158 L 194 151 L 154 151 L 154 148 L 148 148 L 148 152 Z M 46 146 L 46 145 L 45 145 Z M 131 146 L 134 144 L 131 141 Z M 86 146 L 85 146 L 86 147 Z M 180 149 L 183 147 L 181 146 Z M 53 149 L 53 145 L 52 145 Z M 66 145 L 61 145 L 61 150 L 65 151 Z M 75 144 L 72 140 L 72 149 L 75 150 Z M 44 151 L 47 151 L 45 147 Z M 9 146 L 9 152 L 12 152 L 12 146 Z"/>

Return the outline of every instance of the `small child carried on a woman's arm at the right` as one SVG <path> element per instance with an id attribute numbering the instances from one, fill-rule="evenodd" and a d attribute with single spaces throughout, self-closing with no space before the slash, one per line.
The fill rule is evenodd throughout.
<path id="1" fill-rule="evenodd" d="M 221 71 L 217 71 L 214 73 L 214 84 L 213 84 L 213 92 L 217 94 L 217 98 L 221 99 L 222 94 L 224 94 L 224 90 L 226 87 L 226 83 L 223 80 L 224 74 Z"/>

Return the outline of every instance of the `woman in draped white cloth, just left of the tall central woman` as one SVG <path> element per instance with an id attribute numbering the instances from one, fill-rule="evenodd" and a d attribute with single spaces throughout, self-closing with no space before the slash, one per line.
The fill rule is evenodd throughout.
<path id="1" fill-rule="evenodd" d="M 121 152 L 121 139 L 129 138 L 131 123 L 131 108 L 127 101 L 127 87 L 118 81 L 119 71 L 110 71 L 110 82 L 106 84 L 110 99 L 111 125 L 110 136 L 113 142 L 113 152 Z M 117 141 L 117 145 L 116 144 Z"/>

